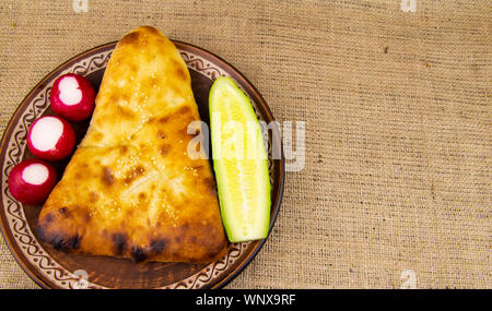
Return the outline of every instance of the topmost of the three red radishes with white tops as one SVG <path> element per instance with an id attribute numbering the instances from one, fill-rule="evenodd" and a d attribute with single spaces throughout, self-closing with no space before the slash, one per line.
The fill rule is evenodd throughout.
<path id="1" fill-rule="evenodd" d="M 68 73 L 58 77 L 49 94 L 51 109 L 70 121 L 82 121 L 94 110 L 95 91 L 84 76 Z"/>

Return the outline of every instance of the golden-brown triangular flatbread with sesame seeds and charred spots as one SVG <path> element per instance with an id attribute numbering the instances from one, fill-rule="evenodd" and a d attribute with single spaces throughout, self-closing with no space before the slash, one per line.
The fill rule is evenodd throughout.
<path id="1" fill-rule="evenodd" d="M 215 180 L 191 159 L 200 120 L 188 69 L 153 27 L 118 43 L 87 133 L 39 215 L 55 248 L 134 261 L 210 262 L 223 254 Z"/>

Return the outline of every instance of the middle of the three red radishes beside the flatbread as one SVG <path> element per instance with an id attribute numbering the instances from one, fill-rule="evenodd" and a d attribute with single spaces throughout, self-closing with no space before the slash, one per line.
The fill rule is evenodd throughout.
<path id="1" fill-rule="evenodd" d="M 42 117 L 34 121 L 27 132 L 27 147 L 42 159 L 62 159 L 72 153 L 74 146 L 73 127 L 60 117 Z"/>

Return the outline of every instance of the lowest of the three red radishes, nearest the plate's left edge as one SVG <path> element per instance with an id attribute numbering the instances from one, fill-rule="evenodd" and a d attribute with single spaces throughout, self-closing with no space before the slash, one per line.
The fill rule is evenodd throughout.
<path id="1" fill-rule="evenodd" d="M 40 159 L 26 159 L 14 166 L 9 175 L 9 190 L 24 204 L 40 204 L 57 183 L 57 171 Z"/>

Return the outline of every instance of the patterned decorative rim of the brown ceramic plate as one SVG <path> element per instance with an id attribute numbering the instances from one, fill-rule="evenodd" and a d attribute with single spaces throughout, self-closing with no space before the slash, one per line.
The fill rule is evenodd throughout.
<path id="1" fill-rule="evenodd" d="M 251 104 L 255 108 L 255 112 L 259 120 L 265 120 L 265 116 L 269 121 L 273 121 L 273 116 L 255 86 L 234 67 L 227 63 L 225 60 L 219 58 L 210 51 L 207 51 L 197 46 L 192 46 L 186 43 L 173 40 L 178 48 L 183 59 L 187 67 L 192 69 L 210 80 L 215 80 L 221 75 L 226 75 L 233 80 L 242 80 L 248 87 L 244 89 L 245 94 L 254 94 L 259 103 L 251 99 Z M 27 275 L 44 288 L 79 288 L 80 275 L 75 272 L 70 272 L 66 267 L 57 263 L 49 253 L 44 250 L 40 243 L 37 241 L 35 235 L 32 232 L 25 214 L 23 212 L 23 204 L 17 202 L 8 191 L 8 176 L 12 167 L 17 164 L 22 158 L 26 149 L 25 136 L 31 123 L 40 116 L 48 108 L 49 91 L 52 86 L 56 76 L 65 73 L 78 73 L 81 75 L 87 75 L 94 71 L 105 68 L 110 55 L 116 47 L 115 43 L 105 44 L 85 52 L 79 53 L 65 63 L 60 64 L 57 69 L 47 74 L 22 100 L 21 105 L 15 110 L 9 124 L 7 125 L 1 140 L 0 158 L 2 178 L 1 178 L 1 196 L 2 196 L 2 211 L 0 213 L 1 230 L 9 249 L 14 255 L 21 267 L 27 273 Z M 203 57 L 207 56 L 207 59 Z M 224 69 L 226 67 L 226 69 Z M 238 83 L 239 85 L 239 83 Z M 22 107 L 25 107 L 23 110 Z M 261 110 L 261 111 L 260 111 Z M 14 124 L 14 120 L 17 120 Z M 272 198 L 272 215 L 270 219 L 271 232 L 277 215 L 280 210 L 280 204 L 283 194 L 284 187 L 284 156 L 282 149 L 282 143 L 280 140 L 280 133 L 277 129 L 272 131 L 272 135 L 277 135 L 277 146 L 272 146 L 272 141 L 268 141 L 268 153 L 271 155 L 272 148 L 278 147 L 281 151 L 281 159 L 278 160 L 278 175 L 280 176 L 279 190 L 276 198 Z M 272 180 L 273 162 L 269 156 L 270 179 Z M 8 228 L 5 228 L 8 227 Z M 267 237 L 268 239 L 268 237 Z M 160 288 L 220 288 L 231 282 L 258 253 L 267 239 L 243 243 L 232 243 L 227 253 L 215 262 L 210 263 L 201 271 L 194 275 L 178 280 L 174 284 L 166 285 Z M 250 254 L 237 262 L 243 252 L 255 244 Z M 221 272 L 225 272 L 231 265 L 237 264 L 237 266 L 230 273 L 220 276 Z M 214 279 L 216 277 L 216 279 Z M 214 283 L 212 283 L 214 282 Z M 106 288 L 98 284 L 93 284 L 85 280 L 87 288 Z"/>

